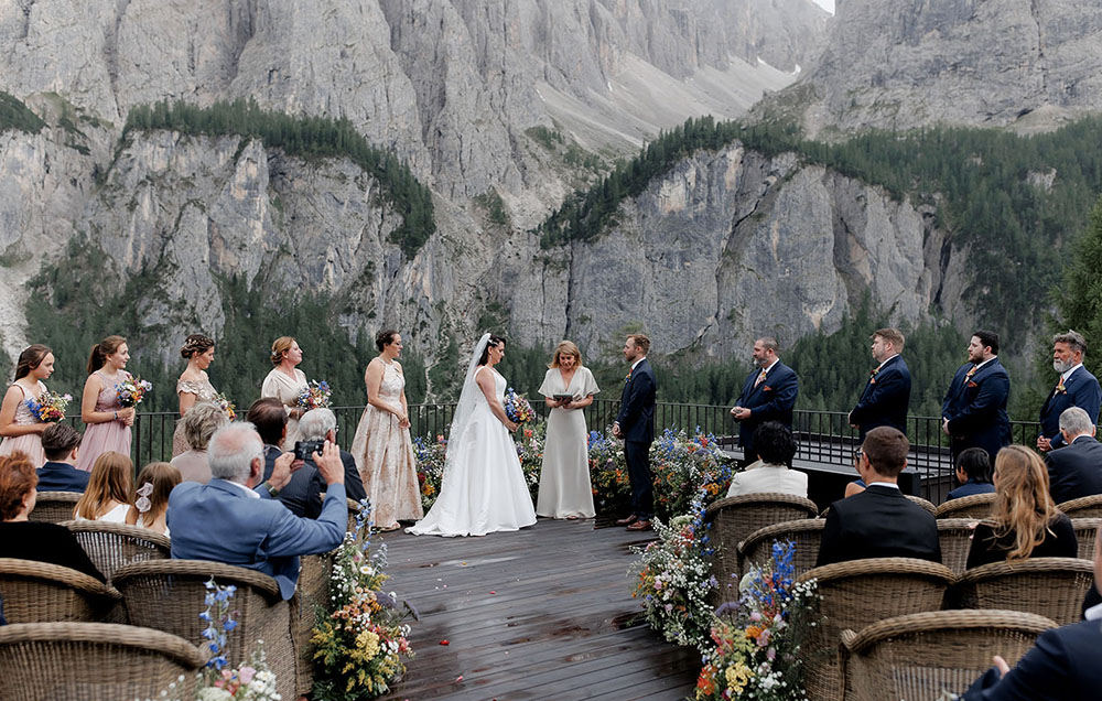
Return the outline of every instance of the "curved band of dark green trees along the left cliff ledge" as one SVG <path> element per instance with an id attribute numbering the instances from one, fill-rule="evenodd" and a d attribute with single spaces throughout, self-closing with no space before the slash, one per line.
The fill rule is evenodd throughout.
<path id="1" fill-rule="evenodd" d="M 436 230 L 429 187 L 418 182 L 409 166 L 392 153 L 368 143 L 347 118 L 292 117 L 263 110 L 251 99 L 215 103 L 206 108 L 161 101 L 132 108 L 122 136 L 125 139 L 131 131 L 155 129 L 251 137 L 303 159 L 347 158 L 381 183 L 385 197 L 402 218 L 390 238 L 407 256 L 412 257 Z"/>

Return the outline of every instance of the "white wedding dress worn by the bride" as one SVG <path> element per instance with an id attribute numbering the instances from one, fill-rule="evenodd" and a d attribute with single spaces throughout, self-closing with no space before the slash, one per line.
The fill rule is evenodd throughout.
<path id="1" fill-rule="evenodd" d="M 505 399 L 508 385 L 494 374 L 494 393 Z M 519 530 L 536 522 L 532 497 L 509 430 L 490 411 L 479 390 L 466 430 L 449 443 L 449 463 L 440 496 L 424 519 L 406 531 L 414 536 L 485 536 Z"/>

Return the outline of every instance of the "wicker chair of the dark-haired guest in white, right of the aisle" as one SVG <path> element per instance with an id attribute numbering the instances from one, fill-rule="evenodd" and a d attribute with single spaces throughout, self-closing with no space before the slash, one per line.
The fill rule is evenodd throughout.
<path id="1" fill-rule="evenodd" d="M 763 492 L 717 499 L 704 511 L 715 543 L 713 571 L 720 592 L 732 578 L 738 578 L 738 543 L 759 528 L 801 518 L 814 518 L 818 507 L 811 499 L 793 494 Z"/>

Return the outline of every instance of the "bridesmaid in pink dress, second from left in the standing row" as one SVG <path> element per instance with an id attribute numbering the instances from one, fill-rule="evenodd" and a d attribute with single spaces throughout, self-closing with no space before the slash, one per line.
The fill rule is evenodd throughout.
<path id="1" fill-rule="evenodd" d="M 130 348 L 122 336 L 108 336 L 91 347 L 88 356 L 88 379 L 80 399 L 80 419 L 86 428 L 76 468 L 91 472 L 96 459 L 107 452 L 130 456 L 130 427 L 134 408 L 119 403 L 116 386 L 130 379 L 127 362 Z"/>

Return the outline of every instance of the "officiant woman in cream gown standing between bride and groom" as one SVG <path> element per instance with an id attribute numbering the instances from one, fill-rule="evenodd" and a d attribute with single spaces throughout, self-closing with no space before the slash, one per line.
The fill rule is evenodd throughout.
<path id="1" fill-rule="evenodd" d="M 590 484 L 588 432 L 581 410 L 593 403 L 593 396 L 601 389 L 590 368 L 582 366 L 582 352 L 570 341 L 559 344 L 548 367 L 540 393 L 551 416 L 543 444 L 536 514 L 551 518 L 593 518 L 596 511 Z"/>

